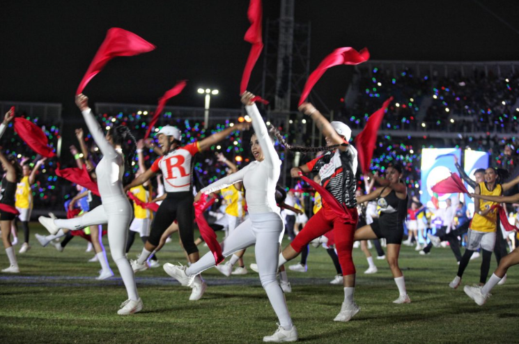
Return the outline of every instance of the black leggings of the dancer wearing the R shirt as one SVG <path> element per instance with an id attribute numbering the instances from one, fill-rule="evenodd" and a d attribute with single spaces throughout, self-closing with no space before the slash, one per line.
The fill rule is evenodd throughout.
<path id="1" fill-rule="evenodd" d="M 168 192 L 166 199 L 155 214 L 151 224 L 151 233 L 148 242 L 153 246 L 159 246 L 160 237 L 168 229 L 173 221 L 178 221 L 180 240 L 187 254 L 196 253 L 199 249 L 194 244 L 194 208 L 193 194 L 191 191 Z"/>

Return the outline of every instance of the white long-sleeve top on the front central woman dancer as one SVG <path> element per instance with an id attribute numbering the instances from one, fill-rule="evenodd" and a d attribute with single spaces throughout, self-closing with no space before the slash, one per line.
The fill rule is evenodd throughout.
<path id="1" fill-rule="evenodd" d="M 250 214 L 261 214 L 264 212 L 277 212 L 279 214 L 279 207 L 276 204 L 274 195 L 281 171 L 281 160 L 274 149 L 274 144 L 270 140 L 267 127 L 263 122 L 263 118 L 261 118 L 256 104 L 249 105 L 245 109 L 252 118 L 252 127 L 265 159 L 262 162 L 251 162 L 240 171 L 204 187 L 201 189 L 201 192 L 210 194 L 233 185 L 235 182 L 243 181 L 243 186 L 247 190 L 245 199 L 247 200 L 247 209 Z"/>

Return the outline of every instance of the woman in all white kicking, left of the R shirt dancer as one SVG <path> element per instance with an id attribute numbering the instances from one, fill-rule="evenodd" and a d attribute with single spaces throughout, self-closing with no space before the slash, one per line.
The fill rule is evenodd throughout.
<path id="1" fill-rule="evenodd" d="M 40 223 L 51 234 L 59 228 L 80 229 L 97 224 L 108 224 L 108 242 L 111 257 L 116 263 L 126 287 L 128 299 L 123 302 L 119 315 L 137 313 L 142 309 L 142 301 L 137 293 L 137 285 L 130 262 L 125 256 L 128 227 L 132 221 L 132 206 L 123 191 L 125 167 L 130 166 L 135 151 L 135 139 L 127 127 L 120 125 L 103 136 L 101 127 L 88 107 L 88 97 L 76 96 L 77 107 L 82 111 L 88 130 L 103 155 L 95 173 L 98 176 L 98 188 L 102 205 L 82 217 L 68 220 L 54 220 L 40 217 Z M 125 164 L 126 159 L 126 164 Z"/>

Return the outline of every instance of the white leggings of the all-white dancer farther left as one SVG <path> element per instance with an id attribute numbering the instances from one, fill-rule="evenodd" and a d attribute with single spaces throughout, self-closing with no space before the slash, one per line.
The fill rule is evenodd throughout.
<path id="1" fill-rule="evenodd" d="M 87 212 L 82 217 L 66 220 L 54 220 L 59 228 L 77 230 L 98 224 L 108 224 L 108 243 L 111 258 L 116 263 L 123 283 L 128 293 L 128 298 L 139 299 L 135 276 L 130 262 L 125 256 L 128 228 L 132 221 L 132 206 L 126 197 L 105 197 L 102 205 Z"/>

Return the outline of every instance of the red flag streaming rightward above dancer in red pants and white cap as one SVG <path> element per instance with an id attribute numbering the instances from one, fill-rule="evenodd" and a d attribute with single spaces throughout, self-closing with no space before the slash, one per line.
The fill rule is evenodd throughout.
<path id="1" fill-rule="evenodd" d="M 360 52 L 352 47 L 343 47 L 335 49 L 332 54 L 326 56 L 309 76 L 307 83 L 304 84 L 303 92 L 299 100 L 299 106 L 307 99 L 311 89 L 325 74 L 326 70 L 334 65 L 358 65 L 369 60 L 368 49 L 364 48 Z"/>

